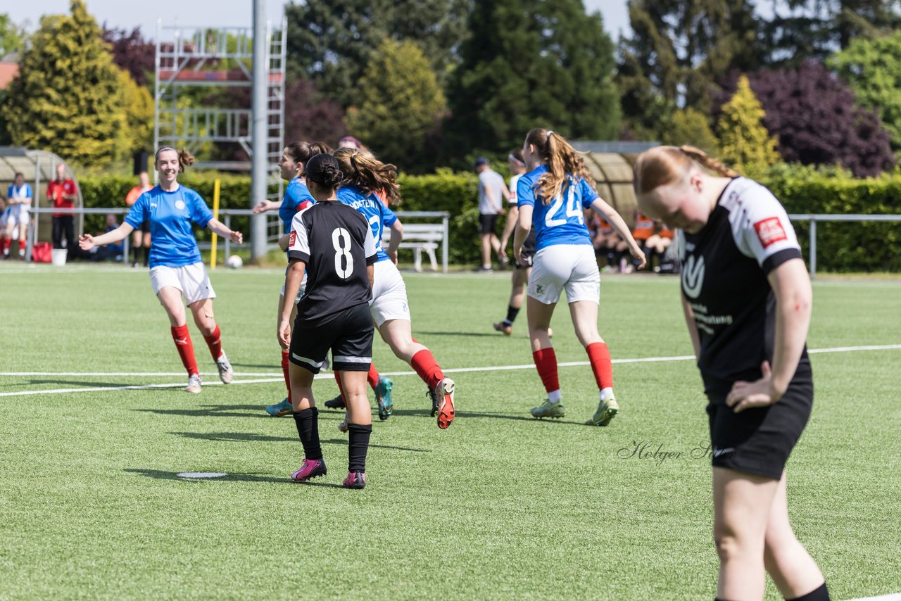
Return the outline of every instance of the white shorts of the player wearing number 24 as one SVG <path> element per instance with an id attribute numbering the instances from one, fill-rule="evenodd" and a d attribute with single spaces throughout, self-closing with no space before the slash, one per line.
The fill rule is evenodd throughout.
<path id="1" fill-rule="evenodd" d="M 564 290 L 569 303 L 600 303 L 601 274 L 591 244 L 555 244 L 535 253 L 528 295 L 553 305 Z"/>

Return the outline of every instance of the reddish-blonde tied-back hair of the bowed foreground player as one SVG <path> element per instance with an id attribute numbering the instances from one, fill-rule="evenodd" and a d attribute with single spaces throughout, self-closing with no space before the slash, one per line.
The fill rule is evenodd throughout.
<path id="1" fill-rule="evenodd" d="M 684 178 L 692 167 L 705 168 L 724 178 L 737 178 L 739 175 L 694 146 L 657 146 L 642 152 L 635 161 L 635 194 L 647 194 L 660 186 L 672 184 Z"/>

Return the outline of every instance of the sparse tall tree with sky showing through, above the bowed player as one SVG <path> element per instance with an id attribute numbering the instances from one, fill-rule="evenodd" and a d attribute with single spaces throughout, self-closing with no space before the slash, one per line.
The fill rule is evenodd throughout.
<path id="1" fill-rule="evenodd" d="M 628 8 L 632 35 L 620 40 L 616 83 L 633 134 L 662 136 L 676 106 L 710 114 L 720 79 L 760 67 L 750 0 L 630 0 Z"/>

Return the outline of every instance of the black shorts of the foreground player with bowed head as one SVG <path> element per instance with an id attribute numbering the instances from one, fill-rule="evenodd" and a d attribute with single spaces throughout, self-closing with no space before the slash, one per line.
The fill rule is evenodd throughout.
<path id="1" fill-rule="evenodd" d="M 788 455 L 804 432 L 814 405 L 810 362 L 802 359 L 785 395 L 773 405 L 736 414 L 725 405 L 728 390 L 708 394 L 714 467 L 778 479 Z"/>

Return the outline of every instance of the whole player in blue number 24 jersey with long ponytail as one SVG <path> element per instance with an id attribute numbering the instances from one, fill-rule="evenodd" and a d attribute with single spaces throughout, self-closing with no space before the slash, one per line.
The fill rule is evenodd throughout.
<path id="1" fill-rule="evenodd" d="M 542 405 L 532 408 L 534 417 L 563 417 L 557 356 L 549 329 L 560 293 L 566 291 L 569 314 L 591 362 L 600 390 L 597 410 L 586 423 L 607 425 L 619 411 L 614 397 L 610 351 L 597 332 L 597 305 L 601 277 L 595 250 L 585 225 L 583 209 L 603 215 L 629 242 L 633 256 L 644 266 L 644 254 L 614 208 L 598 198 L 594 179 L 585 162 L 560 134 L 534 129 L 525 137 L 523 158 L 528 172 L 519 178 L 516 201 L 519 223 L 514 234 L 516 261 L 523 262 L 523 243 L 535 229 L 535 256 L 529 278 L 526 315 L 532 358 L 548 393 Z"/>

